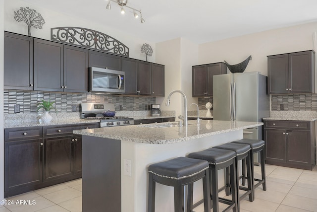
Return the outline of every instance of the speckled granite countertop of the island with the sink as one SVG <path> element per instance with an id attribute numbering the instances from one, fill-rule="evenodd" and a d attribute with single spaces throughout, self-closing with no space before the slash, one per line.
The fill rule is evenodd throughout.
<path id="1" fill-rule="evenodd" d="M 177 122 L 170 122 L 169 124 L 177 124 Z M 197 125 L 196 120 L 191 120 L 188 121 L 187 128 L 177 126 L 158 128 L 162 125 L 166 125 L 166 123 L 76 130 L 73 131 L 73 133 L 114 140 L 124 140 L 150 144 L 167 144 L 257 127 L 263 125 L 263 123 L 201 120 L 200 124 Z"/>

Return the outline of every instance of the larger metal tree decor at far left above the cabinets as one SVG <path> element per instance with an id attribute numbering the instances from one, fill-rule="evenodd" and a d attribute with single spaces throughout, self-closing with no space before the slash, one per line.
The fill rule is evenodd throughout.
<path id="1" fill-rule="evenodd" d="M 29 7 L 20 7 L 17 11 L 14 11 L 14 19 L 17 22 L 24 21 L 28 25 L 28 35 L 31 36 L 31 27 L 36 29 L 42 29 L 45 24 L 45 20 L 42 15 L 35 9 Z"/>

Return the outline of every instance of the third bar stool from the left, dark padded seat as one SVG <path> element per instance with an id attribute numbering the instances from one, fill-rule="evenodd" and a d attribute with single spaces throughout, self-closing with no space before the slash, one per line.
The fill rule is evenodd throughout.
<path id="1" fill-rule="evenodd" d="M 231 150 L 234 151 L 236 153 L 236 175 L 237 175 L 237 187 L 239 189 L 237 189 L 237 203 L 239 204 L 240 202 L 240 198 L 244 198 L 247 195 L 249 195 L 249 201 L 253 202 L 253 186 L 252 186 L 252 172 L 251 172 L 251 147 L 248 144 L 243 144 L 243 143 L 224 143 L 222 145 L 218 145 L 218 146 L 214 146 L 213 148 L 219 148 L 219 149 L 227 149 L 227 150 Z M 245 173 L 243 173 L 243 176 L 239 176 L 239 160 L 243 160 L 246 159 L 247 160 L 247 177 L 244 176 Z M 226 182 L 228 182 L 228 172 L 226 171 Z M 247 178 L 248 180 L 248 188 L 239 186 L 239 179 L 240 178 Z M 244 190 L 246 191 L 243 195 L 239 195 L 239 190 Z M 229 192 L 226 192 L 226 195 L 228 195 Z"/>

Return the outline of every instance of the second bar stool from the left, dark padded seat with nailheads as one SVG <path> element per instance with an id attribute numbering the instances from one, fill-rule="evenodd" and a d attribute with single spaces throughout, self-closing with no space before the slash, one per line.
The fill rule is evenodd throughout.
<path id="1" fill-rule="evenodd" d="M 210 175 L 210 185 L 211 185 L 211 207 L 213 212 L 219 211 L 219 202 L 229 205 L 224 212 L 233 209 L 234 212 L 238 212 L 237 204 L 237 185 L 236 185 L 236 163 L 235 157 L 236 153 L 234 151 L 225 149 L 209 148 L 203 151 L 192 152 L 187 155 L 190 158 L 207 160 L 209 162 L 209 175 Z M 220 198 L 218 196 L 218 170 L 230 167 L 230 179 L 232 185 L 232 200 Z M 192 185 L 189 185 L 191 189 Z M 189 190 L 188 189 L 188 190 Z M 191 210 L 192 210 L 192 197 L 191 197 Z"/>

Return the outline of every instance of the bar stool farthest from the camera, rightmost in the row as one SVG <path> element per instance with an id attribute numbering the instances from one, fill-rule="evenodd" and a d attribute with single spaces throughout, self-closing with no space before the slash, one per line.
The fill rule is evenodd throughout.
<path id="1" fill-rule="evenodd" d="M 252 170 L 252 185 L 253 185 L 253 199 L 255 197 L 254 191 L 257 187 L 259 187 L 261 184 L 263 186 L 263 191 L 266 191 L 266 177 L 265 177 L 265 161 L 264 161 L 264 144 L 265 142 L 263 140 L 255 140 L 255 139 L 241 139 L 238 141 L 232 141 L 234 143 L 243 143 L 243 144 L 249 144 L 251 147 L 251 170 Z M 261 158 L 261 175 L 262 179 L 255 179 L 254 177 L 254 154 L 259 153 Z M 242 170 L 245 170 L 245 166 L 242 167 Z M 255 184 L 255 181 L 257 181 L 257 184 Z"/>

